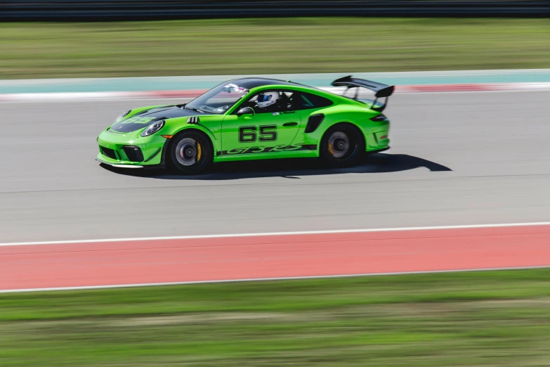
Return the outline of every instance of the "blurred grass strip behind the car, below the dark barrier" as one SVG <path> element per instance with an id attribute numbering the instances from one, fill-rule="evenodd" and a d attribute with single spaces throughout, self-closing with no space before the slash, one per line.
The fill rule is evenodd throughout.
<path id="1" fill-rule="evenodd" d="M 0 24 L 0 79 L 538 68 L 550 19 Z"/>

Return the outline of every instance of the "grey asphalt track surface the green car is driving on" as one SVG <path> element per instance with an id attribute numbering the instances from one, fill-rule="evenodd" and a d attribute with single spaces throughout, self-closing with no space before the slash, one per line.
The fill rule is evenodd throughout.
<path id="1" fill-rule="evenodd" d="M 3 103 L 0 243 L 550 219 L 550 92 L 398 94 L 391 150 L 350 169 L 226 163 L 113 171 L 96 136 L 174 100 Z"/>

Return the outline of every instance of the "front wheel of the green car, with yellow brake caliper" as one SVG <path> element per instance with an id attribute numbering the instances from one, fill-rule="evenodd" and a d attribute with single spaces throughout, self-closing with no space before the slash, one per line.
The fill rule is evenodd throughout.
<path id="1" fill-rule="evenodd" d="M 183 174 L 205 172 L 214 160 L 214 147 L 202 131 L 188 129 L 174 136 L 169 146 L 170 167 Z"/>

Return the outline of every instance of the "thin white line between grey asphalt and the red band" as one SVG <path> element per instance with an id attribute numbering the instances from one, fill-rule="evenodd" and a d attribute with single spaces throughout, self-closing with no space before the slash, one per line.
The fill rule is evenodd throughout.
<path id="1" fill-rule="evenodd" d="M 169 236 L 169 237 L 139 237 L 139 238 L 102 238 L 96 240 L 60 240 L 38 242 L 0 243 L 0 246 L 27 246 L 27 245 L 65 245 L 72 243 L 105 243 L 105 242 L 137 242 L 150 240 L 192 240 L 204 238 L 235 238 L 235 237 L 266 237 L 266 236 L 300 236 L 334 233 L 369 233 L 369 232 L 397 232 L 397 231 L 431 231 L 440 229 L 468 229 L 468 228 L 502 228 L 525 226 L 550 226 L 550 221 L 535 221 L 528 223 L 503 224 L 468 224 L 464 226 L 424 226 L 424 227 L 397 227 L 397 228 L 363 228 L 363 229 L 334 229 L 328 231 L 296 231 L 296 232 L 263 232 L 263 233 L 228 233 L 197 236 Z"/>

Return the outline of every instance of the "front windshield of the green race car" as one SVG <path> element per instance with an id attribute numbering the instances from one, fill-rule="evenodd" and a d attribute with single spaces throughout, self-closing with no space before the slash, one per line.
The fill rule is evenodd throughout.
<path id="1" fill-rule="evenodd" d="M 185 105 L 185 108 L 195 108 L 202 112 L 221 115 L 246 96 L 248 92 L 248 89 L 241 88 L 237 84 L 222 83 L 192 100 Z"/>

